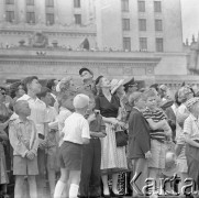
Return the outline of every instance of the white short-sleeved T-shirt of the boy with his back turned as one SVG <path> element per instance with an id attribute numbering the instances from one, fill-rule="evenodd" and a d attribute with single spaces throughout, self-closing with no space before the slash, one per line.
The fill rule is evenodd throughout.
<path id="1" fill-rule="evenodd" d="M 82 139 L 90 139 L 88 121 L 77 112 L 66 119 L 63 132 L 65 133 L 64 141 L 76 144 L 82 144 Z"/>

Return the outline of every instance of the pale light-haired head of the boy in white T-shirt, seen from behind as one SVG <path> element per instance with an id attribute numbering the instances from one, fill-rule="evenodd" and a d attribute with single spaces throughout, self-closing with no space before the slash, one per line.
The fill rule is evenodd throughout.
<path id="1" fill-rule="evenodd" d="M 73 105 L 76 112 L 80 112 L 81 114 L 85 114 L 89 107 L 89 97 L 86 95 L 79 94 L 74 98 Z"/>

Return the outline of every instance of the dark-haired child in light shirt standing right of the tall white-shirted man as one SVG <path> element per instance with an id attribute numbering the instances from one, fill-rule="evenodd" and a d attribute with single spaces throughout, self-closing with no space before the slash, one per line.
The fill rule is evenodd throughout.
<path id="1" fill-rule="evenodd" d="M 57 123 L 55 122 L 55 119 L 57 117 L 57 111 L 54 107 L 51 107 L 52 105 L 52 95 L 51 90 L 47 87 L 42 87 L 41 92 L 37 95 L 37 97 L 46 105 L 46 111 L 47 111 L 47 121 L 48 121 L 48 134 L 46 135 L 47 145 L 46 145 L 46 168 L 47 168 L 47 176 L 48 176 L 48 183 L 49 183 L 49 189 L 51 195 L 53 197 L 54 190 L 55 190 L 55 173 L 57 168 L 57 140 L 56 140 L 56 133 L 57 133 Z"/>

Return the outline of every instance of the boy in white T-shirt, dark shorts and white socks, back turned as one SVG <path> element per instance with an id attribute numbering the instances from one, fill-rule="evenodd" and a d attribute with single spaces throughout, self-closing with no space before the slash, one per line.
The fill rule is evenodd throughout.
<path id="1" fill-rule="evenodd" d="M 68 197 L 77 198 L 81 173 L 82 144 L 88 144 L 90 139 L 89 124 L 84 118 L 89 106 L 89 97 L 77 95 L 73 105 L 75 112 L 66 119 L 63 129 L 65 135 L 59 151 L 60 178 L 56 184 L 54 198 L 62 197 L 68 179 Z"/>

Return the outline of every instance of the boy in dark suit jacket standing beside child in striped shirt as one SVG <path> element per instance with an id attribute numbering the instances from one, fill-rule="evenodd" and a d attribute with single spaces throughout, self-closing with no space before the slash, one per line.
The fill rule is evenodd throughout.
<path id="1" fill-rule="evenodd" d="M 142 114 L 145 109 L 144 94 L 133 92 L 130 102 L 134 102 L 129 119 L 129 158 L 134 164 L 134 176 L 131 180 L 133 196 L 143 195 L 142 188 L 146 185 L 147 160 L 152 156 L 150 151 L 150 127 Z"/>

